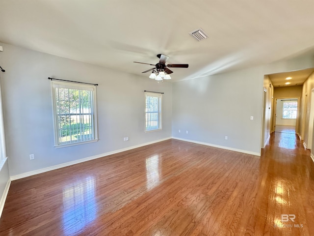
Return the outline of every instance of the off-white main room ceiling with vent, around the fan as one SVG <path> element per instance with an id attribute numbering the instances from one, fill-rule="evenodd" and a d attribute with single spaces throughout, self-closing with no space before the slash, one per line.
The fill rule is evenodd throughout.
<path id="1" fill-rule="evenodd" d="M 165 54 L 178 81 L 313 50 L 314 0 L 0 0 L 0 41 L 146 77 Z"/>

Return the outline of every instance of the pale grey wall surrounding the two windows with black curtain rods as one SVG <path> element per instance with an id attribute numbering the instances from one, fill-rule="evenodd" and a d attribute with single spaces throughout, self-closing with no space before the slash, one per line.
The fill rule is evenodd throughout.
<path id="1" fill-rule="evenodd" d="M 171 137 L 172 84 L 7 45 L 1 53 L 3 112 L 11 176 Z M 96 143 L 54 148 L 48 77 L 97 83 Z M 144 132 L 144 90 L 163 94 L 163 129 Z M 123 137 L 129 136 L 128 142 Z M 29 160 L 29 154 L 35 159 Z"/>

